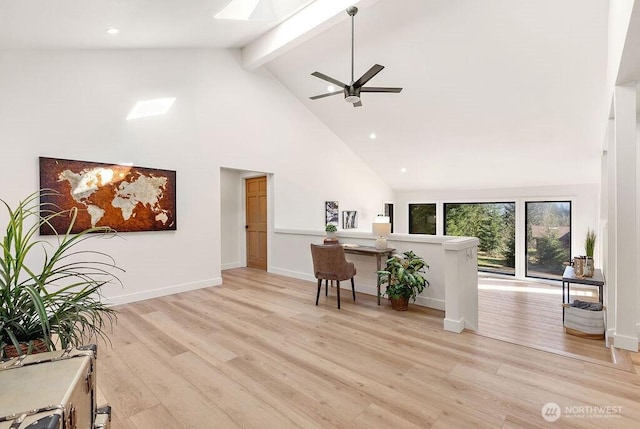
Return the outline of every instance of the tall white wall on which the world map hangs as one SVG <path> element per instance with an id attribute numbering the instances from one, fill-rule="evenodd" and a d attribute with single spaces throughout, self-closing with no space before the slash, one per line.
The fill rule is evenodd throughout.
<path id="1" fill-rule="evenodd" d="M 113 302 L 220 283 L 221 167 L 272 172 L 281 227 L 322 228 L 329 199 L 366 225 L 391 196 L 271 75 L 243 71 L 236 51 L 3 51 L 0 76 L 8 202 L 37 189 L 38 156 L 177 171 L 177 231 L 100 243 L 127 270 L 124 289 L 104 291 Z M 137 100 L 164 96 L 177 97 L 167 115 L 125 120 Z"/>

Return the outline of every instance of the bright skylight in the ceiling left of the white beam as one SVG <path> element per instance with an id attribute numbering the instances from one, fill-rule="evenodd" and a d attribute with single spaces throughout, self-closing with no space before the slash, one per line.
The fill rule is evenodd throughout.
<path id="1" fill-rule="evenodd" d="M 315 0 L 231 0 L 216 19 L 280 22 Z"/>

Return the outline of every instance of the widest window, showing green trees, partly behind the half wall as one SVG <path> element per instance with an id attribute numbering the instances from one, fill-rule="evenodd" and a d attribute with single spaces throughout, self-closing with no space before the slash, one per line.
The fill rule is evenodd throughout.
<path id="1" fill-rule="evenodd" d="M 444 234 L 478 237 L 478 270 L 515 275 L 516 204 L 444 205 Z"/>

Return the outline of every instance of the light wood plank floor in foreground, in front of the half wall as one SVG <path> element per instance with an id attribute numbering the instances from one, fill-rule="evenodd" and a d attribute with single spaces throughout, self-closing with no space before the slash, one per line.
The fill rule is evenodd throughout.
<path id="1" fill-rule="evenodd" d="M 119 307 L 98 386 L 127 428 L 640 427 L 640 377 L 463 332 L 439 311 L 250 269 Z M 634 355 L 636 365 L 640 360 Z M 542 417 L 544 404 L 621 407 Z"/>

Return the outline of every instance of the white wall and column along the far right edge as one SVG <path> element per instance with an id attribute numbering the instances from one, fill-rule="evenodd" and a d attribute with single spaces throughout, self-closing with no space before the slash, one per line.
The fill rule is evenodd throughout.
<path id="1" fill-rule="evenodd" d="M 603 136 L 606 152 L 602 160 L 601 187 L 601 231 L 606 234 L 603 268 L 607 280 L 607 341 L 608 344 L 632 351 L 638 350 L 640 338 L 640 292 L 637 287 L 637 266 L 640 262 L 637 230 L 640 224 L 640 175 L 637 172 L 640 152 L 637 151 L 637 86 L 624 84 L 640 71 L 632 69 L 633 65 L 638 64 L 637 58 L 634 58 L 637 56 L 637 32 L 629 31 L 634 24 L 637 28 L 637 23 L 633 21 L 637 20 L 637 14 L 633 13 L 635 3 L 635 0 L 609 2 L 605 104 L 611 106 L 613 119 L 609 120 L 608 132 Z M 637 4 L 635 7 L 637 12 Z M 628 69 L 622 70 L 621 59 L 625 57 Z M 622 78 L 621 73 L 624 76 Z M 616 83 L 622 85 L 615 86 Z M 620 99 L 616 100 L 614 94 Z M 631 161 L 628 159 L 630 153 L 634 153 Z M 634 214 L 630 219 L 628 214 L 632 212 Z"/>

